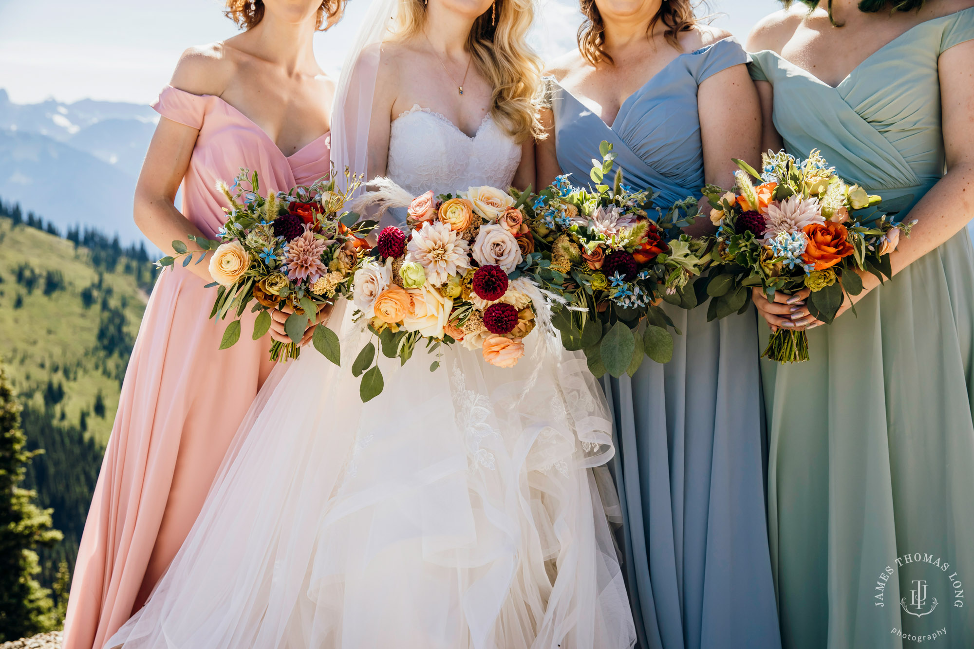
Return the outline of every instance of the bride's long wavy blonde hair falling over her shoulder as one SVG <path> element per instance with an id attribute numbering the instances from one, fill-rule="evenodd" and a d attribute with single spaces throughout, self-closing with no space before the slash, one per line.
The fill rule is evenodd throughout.
<path id="1" fill-rule="evenodd" d="M 527 45 L 534 1 L 495 0 L 493 10 L 496 20 L 491 11 L 484 12 L 474 20 L 467 39 L 474 67 L 494 89 L 491 116 L 519 143 L 542 138 L 543 62 Z M 400 0 L 396 35 L 416 36 L 424 24 L 424 0 Z"/>

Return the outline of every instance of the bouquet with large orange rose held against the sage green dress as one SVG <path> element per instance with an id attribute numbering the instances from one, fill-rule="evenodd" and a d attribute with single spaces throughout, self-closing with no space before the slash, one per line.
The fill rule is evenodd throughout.
<path id="1" fill-rule="evenodd" d="M 856 271 L 869 271 L 880 282 L 892 275 L 888 255 L 913 223 L 894 223 L 878 210 L 879 196 L 848 185 L 817 150 L 806 160 L 768 151 L 763 173 L 734 162 L 741 171 L 733 191 L 713 185 L 702 190 L 718 226 L 705 286 L 712 298 L 708 320 L 743 313 L 751 288 L 761 286 L 768 300 L 775 291 L 808 288 L 808 311 L 828 324 L 844 293 L 862 292 Z M 761 184 L 755 186 L 752 176 Z M 807 361 L 807 334 L 779 328 L 762 358 Z"/>

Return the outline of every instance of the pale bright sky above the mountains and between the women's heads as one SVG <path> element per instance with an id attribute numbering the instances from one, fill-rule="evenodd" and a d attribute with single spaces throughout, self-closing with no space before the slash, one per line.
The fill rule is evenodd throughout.
<path id="1" fill-rule="evenodd" d="M 580 16 L 573 0 L 541 0 L 545 57 L 573 47 Z M 319 34 L 321 66 L 337 72 L 367 0 L 351 0 L 346 18 Z M 774 0 L 709 0 L 714 23 L 743 39 Z M 55 97 L 147 103 L 169 80 L 188 46 L 227 38 L 234 25 L 219 0 L 0 0 L 0 88 L 19 103 Z M 54 19 L 53 19 L 54 18 Z"/>

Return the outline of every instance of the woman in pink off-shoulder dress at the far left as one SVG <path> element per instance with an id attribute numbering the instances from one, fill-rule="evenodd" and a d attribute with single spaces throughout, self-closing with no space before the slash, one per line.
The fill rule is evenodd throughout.
<path id="1" fill-rule="evenodd" d="M 215 184 L 242 167 L 258 172 L 261 191 L 328 172 L 334 84 L 312 39 L 343 2 L 228 0 L 246 31 L 183 55 L 153 105 L 162 119 L 135 191 L 135 221 L 156 246 L 213 238 L 227 205 Z M 100 648 L 145 602 L 274 366 L 267 338 L 219 350 L 226 323 L 208 318 L 211 281 L 204 261 L 167 270 L 152 291 L 78 552 L 65 649 Z"/>

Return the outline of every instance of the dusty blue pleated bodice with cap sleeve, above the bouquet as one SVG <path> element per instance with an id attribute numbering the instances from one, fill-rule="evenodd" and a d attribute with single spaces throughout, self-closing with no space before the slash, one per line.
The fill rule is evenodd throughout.
<path id="1" fill-rule="evenodd" d="M 660 206 L 673 205 L 703 186 L 703 155 L 696 89 L 717 72 L 747 62 L 732 38 L 676 57 L 629 95 L 610 127 L 577 97 L 552 83 L 558 162 L 573 181 L 587 182 L 599 143 L 615 145 L 626 184 L 653 187 Z"/>

